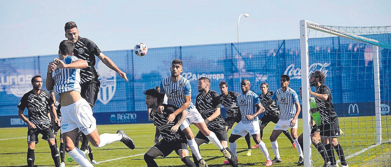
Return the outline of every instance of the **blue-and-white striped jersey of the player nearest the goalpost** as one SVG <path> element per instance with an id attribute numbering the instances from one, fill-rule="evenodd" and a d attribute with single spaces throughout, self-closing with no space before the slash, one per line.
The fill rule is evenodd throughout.
<path id="1" fill-rule="evenodd" d="M 280 120 L 288 121 L 293 119 L 296 115 L 296 105 L 295 103 L 299 101 L 296 91 L 288 87 L 287 91 L 283 92 L 282 88 L 277 89 L 277 91 L 271 97 L 272 100 L 278 100 L 280 106 Z"/>

